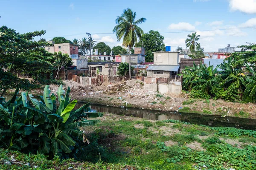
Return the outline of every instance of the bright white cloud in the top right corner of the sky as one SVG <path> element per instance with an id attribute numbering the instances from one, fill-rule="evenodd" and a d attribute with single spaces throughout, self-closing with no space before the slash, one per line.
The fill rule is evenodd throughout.
<path id="1" fill-rule="evenodd" d="M 231 11 L 256 14 L 256 0 L 229 0 Z"/>

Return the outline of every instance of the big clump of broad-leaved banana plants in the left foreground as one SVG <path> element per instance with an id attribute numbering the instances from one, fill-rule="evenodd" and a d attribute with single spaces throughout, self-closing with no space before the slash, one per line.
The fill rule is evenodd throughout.
<path id="1" fill-rule="evenodd" d="M 17 93 L 16 90 L 8 102 L 0 102 L 0 147 L 49 155 L 71 153 L 77 140 L 86 141 L 79 127 L 99 122 L 84 118 L 102 116 L 101 113 L 89 113 L 89 104 L 74 111 L 77 100 L 70 102 L 70 89 L 65 92 L 62 85 L 58 89 L 58 108 L 49 85 L 44 88 L 42 101 L 32 94 L 29 94 L 29 101 L 27 93 L 22 92 L 20 97 Z"/>

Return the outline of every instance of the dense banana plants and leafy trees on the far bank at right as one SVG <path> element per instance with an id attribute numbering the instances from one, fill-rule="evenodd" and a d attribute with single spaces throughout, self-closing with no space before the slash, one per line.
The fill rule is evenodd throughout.
<path id="1" fill-rule="evenodd" d="M 183 90 L 193 98 L 224 99 L 233 102 L 256 102 L 256 45 L 242 45 L 224 63 L 213 68 L 204 64 L 186 67 Z"/>

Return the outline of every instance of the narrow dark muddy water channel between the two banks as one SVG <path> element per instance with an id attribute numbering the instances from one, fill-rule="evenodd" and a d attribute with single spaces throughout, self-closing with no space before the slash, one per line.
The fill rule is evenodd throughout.
<path id="1" fill-rule="evenodd" d="M 78 107 L 83 105 L 78 103 Z M 236 127 L 242 129 L 256 130 L 255 119 L 244 119 L 236 117 L 221 117 L 218 115 L 201 115 L 195 113 L 177 113 L 170 111 L 152 111 L 138 108 L 113 108 L 105 105 L 91 105 L 97 112 L 113 113 L 117 115 L 134 116 L 149 120 L 174 119 L 183 122 L 190 122 L 198 125 L 207 125 L 211 127 Z"/>

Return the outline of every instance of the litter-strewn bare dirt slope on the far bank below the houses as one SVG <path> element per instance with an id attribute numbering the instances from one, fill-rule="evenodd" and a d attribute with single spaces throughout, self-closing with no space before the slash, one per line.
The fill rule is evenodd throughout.
<path id="1" fill-rule="evenodd" d="M 69 86 L 71 99 L 81 102 L 109 105 L 114 107 L 133 107 L 161 111 L 186 110 L 188 113 L 212 114 L 256 119 L 256 105 L 252 103 L 225 102 L 223 100 L 188 99 L 185 95 L 177 96 L 160 94 L 144 90 L 143 82 L 127 80 L 116 84 L 103 83 L 99 86 L 81 85 L 72 80 L 64 81 L 64 89 Z M 50 85 L 50 90 L 56 94 L 57 85 Z M 42 94 L 42 90 L 32 91 Z"/>

